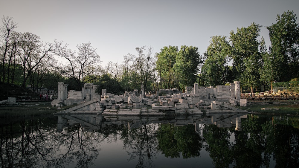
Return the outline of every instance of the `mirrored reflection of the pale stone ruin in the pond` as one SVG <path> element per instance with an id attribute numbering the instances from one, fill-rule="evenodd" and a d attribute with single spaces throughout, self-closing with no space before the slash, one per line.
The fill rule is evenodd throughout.
<path id="1" fill-rule="evenodd" d="M 219 128 L 235 128 L 242 130 L 241 118 L 247 118 L 247 114 L 236 113 L 211 113 L 196 116 L 176 116 L 165 119 L 161 116 L 139 117 L 139 116 L 103 116 L 97 114 L 59 114 L 57 130 L 62 131 L 68 125 L 81 123 L 84 130 L 99 130 L 112 124 L 124 125 L 128 129 L 140 128 L 150 123 L 173 124 L 185 126 L 193 124 L 195 131 L 200 130 L 201 124 L 213 124 Z"/>

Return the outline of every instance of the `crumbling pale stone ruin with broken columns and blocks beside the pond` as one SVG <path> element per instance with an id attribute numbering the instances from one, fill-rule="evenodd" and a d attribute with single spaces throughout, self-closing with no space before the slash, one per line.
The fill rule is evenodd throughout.
<path id="1" fill-rule="evenodd" d="M 143 88 L 125 92 L 122 95 L 95 92 L 97 85 L 86 83 L 82 91 L 70 90 L 67 85 L 58 83 L 58 99 L 52 101 L 53 106 L 77 106 L 64 111 L 66 113 L 105 114 L 105 115 L 195 115 L 205 112 L 247 112 L 234 106 L 246 106 L 246 99 L 240 100 L 240 82 L 230 83 L 229 86 L 186 87 L 186 93 L 178 89 L 160 89 L 157 94 L 144 97 Z"/>

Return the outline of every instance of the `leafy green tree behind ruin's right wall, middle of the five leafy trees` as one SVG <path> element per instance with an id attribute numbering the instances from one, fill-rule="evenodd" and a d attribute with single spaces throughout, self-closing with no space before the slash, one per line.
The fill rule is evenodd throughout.
<path id="1" fill-rule="evenodd" d="M 207 59 L 202 66 L 202 74 L 206 84 L 210 86 L 225 85 L 228 73 L 228 61 L 231 46 L 225 36 L 213 36 L 205 53 Z"/>

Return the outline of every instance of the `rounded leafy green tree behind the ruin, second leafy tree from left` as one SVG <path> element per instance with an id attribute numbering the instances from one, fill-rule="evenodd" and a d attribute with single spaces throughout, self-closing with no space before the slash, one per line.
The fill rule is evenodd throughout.
<path id="1" fill-rule="evenodd" d="M 179 81 L 178 88 L 182 90 L 186 86 L 193 86 L 201 63 L 203 60 L 197 47 L 181 46 L 174 64 L 175 77 Z"/>

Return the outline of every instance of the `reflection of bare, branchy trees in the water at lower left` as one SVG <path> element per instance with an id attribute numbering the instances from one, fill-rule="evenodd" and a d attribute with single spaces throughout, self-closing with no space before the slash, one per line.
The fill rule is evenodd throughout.
<path id="1" fill-rule="evenodd" d="M 17 128 L 15 128 L 17 127 Z M 20 136 L 13 134 L 21 127 Z M 1 167 L 90 167 L 97 157 L 103 138 L 86 132 L 81 125 L 68 126 L 62 132 L 56 125 L 47 127 L 42 119 L 22 121 L 1 129 Z M 5 152 L 4 152 L 5 151 Z"/>

